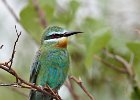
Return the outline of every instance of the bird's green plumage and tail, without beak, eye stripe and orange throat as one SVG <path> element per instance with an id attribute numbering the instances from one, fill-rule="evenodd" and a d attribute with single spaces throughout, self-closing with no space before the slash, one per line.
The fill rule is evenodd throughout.
<path id="1" fill-rule="evenodd" d="M 55 47 L 59 41 L 45 41 L 47 36 L 64 30 L 60 27 L 51 27 L 45 30 L 40 50 L 31 67 L 30 82 L 39 86 L 48 84 L 53 90 L 57 91 L 64 83 L 69 68 L 69 56 L 66 48 Z M 52 97 L 46 96 L 38 91 L 31 91 L 30 100 L 51 100 Z"/>

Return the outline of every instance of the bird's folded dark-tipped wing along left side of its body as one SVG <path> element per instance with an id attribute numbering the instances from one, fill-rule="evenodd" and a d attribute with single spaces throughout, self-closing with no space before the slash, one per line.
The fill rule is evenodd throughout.
<path id="1" fill-rule="evenodd" d="M 31 83 L 36 83 L 36 78 L 37 78 L 39 69 L 41 67 L 40 61 L 39 61 L 40 55 L 41 55 L 41 52 L 38 51 L 36 54 L 36 57 L 34 59 L 34 63 L 31 66 L 31 70 L 30 70 L 30 82 Z"/>

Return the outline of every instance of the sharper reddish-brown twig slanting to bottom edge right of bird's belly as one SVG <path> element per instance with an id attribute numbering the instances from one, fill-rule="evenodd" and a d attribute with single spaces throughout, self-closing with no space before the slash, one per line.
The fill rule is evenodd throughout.
<path id="1" fill-rule="evenodd" d="M 83 89 L 83 91 L 87 94 L 90 100 L 95 100 L 95 98 L 87 91 L 81 80 L 76 79 L 74 76 L 70 76 L 69 78 L 75 81 L 81 87 L 81 89 Z"/>

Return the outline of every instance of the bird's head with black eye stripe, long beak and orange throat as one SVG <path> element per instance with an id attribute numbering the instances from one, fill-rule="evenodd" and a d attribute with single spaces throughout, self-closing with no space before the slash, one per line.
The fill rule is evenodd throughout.
<path id="1" fill-rule="evenodd" d="M 58 26 L 48 27 L 42 35 L 41 44 L 66 48 L 68 42 L 67 37 L 78 33 L 82 32 L 69 32 Z"/>

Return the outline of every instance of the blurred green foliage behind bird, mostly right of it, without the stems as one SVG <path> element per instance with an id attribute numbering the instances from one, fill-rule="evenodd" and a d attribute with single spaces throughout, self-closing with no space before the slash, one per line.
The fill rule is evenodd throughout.
<path id="1" fill-rule="evenodd" d="M 123 57 L 127 62 L 134 55 L 132 66 L 139 82 L 140 41 L 135 41 L 130 34 L 115 33 L 103 19 L 86 17 L 78 25 L 75 18 L 81 3 L 76 0 L 70 0 L 67 8 L 61 7 L 55 0 L 40 0 L 39 6 L 45 13 L 48 26 L 60 25 L 66 29 L 84 32 L 70 38 L 68 47 L 72 60 L 70 74 L 81 77 L 97 100 L 139 100 L 140 89 L 137 86 L 134 91 L 131 91 L 134 84 L 131 84 L 129 77 L 126 78 L 127 74 L 107 68 L 107 65 L 95 59 L 94 56 L 97 55 L 110 64 L 116 65 L 117 68 L 122 68 L 123 65 L 107 55 L 105 49 Z M 39 45 L 43 26 L 39 22 L 32 0 L 20 12 L 20 23 Z M 75 91 L 81 91 L 79 88 L 75 89 Z M 87 97 L 83 93 L 77 93 L 86 100 Z"/>

